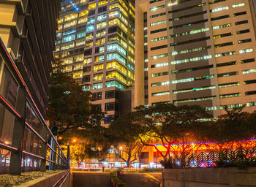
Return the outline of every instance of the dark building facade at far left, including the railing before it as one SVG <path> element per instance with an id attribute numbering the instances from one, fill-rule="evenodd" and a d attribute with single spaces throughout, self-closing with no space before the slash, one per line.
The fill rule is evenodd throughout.
<path id="1" fill-rule="evenodd" d="M 0 1 L 0 173 L 67 167 L 46 122 L 59 9 L 59 0 Z"/>

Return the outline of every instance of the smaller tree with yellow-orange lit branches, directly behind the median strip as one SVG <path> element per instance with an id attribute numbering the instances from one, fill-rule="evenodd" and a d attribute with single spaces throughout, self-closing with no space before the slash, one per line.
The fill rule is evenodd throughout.
<path id="1" fill-rule="evenodd" d="M 110 124 L 109 141 L 118 150 L 121 146 L 124 156 L 118 154 L 119 159 L 126 162 L 127 167 L 138 159 L 143 151 L 144 145 L 141 144 L 138 133 L 140 127 L 132 124 L 132 113 L 122 115 L 115 122 Z"/>

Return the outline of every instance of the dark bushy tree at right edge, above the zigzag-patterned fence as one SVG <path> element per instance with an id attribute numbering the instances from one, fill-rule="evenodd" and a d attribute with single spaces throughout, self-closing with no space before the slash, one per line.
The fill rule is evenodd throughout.
<path id="1" fill-rule="evenodd" d="M 220 115 L 217 121 L 212 122 L 205 134 L 209 141 L 216 142 L 219 150 L 234 146 L 242 147 L 244 140 L 252 138 L 255 134 L 254 114 L 243 111 L 244 107 L 225 109 L 225 114 Z M 253 122 L 254 121 L 254 122 Z M 239 145 L 237 145 L 239 144 Z"/>

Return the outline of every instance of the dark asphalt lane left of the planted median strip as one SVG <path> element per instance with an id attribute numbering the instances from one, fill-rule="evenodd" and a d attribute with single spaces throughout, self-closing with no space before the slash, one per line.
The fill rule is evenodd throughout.
<path id="1" fill-rule="evenodd" d="M 73 187 L 113 187 L 110 173 L 73 172 Z"/>

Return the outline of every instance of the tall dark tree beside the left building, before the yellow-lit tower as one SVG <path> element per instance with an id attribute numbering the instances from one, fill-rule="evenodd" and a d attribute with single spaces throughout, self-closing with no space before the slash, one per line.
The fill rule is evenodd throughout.
<path id="1" fill-rule="evenodd" d="M 53 64 L 50 97 L 48 99 L 48 118 L 50 127 L 56 126 L 59 135 L 69 129 L 100 125 L 104 113 L 97 105 L 91 104 L 91 92 L 85 91 L 64 71 L 61 61 Z"/>

